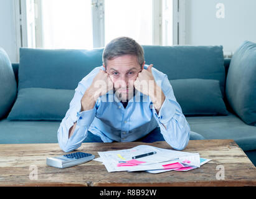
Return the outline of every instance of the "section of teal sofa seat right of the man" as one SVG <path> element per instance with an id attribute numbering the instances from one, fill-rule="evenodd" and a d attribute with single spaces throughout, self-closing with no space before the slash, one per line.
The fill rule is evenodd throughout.
<path id="1" fill-rule="evenodd" d="M 245 124 L 235 114 L 227 116 L 186 117 L 191 131 L 198 132 L 205 139 L 234 139 L 243 150 L 256 149 L 255 126 Z"/>

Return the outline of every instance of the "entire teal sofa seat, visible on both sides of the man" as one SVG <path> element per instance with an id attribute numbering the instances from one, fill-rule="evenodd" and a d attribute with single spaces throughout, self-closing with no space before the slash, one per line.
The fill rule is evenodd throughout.
<path id="1" fill-rule="evenodd" d="M 186 117 L 191 131 L 205 139 L 234 139 L 243 150 L 256 149 L 255 126 L 249 126 L 235 114 L 227 116 Z M 0 121 L 0 144 L 57 143 L 60 121 Z M 11 132 L 11 133 L 10 133 Z"/>

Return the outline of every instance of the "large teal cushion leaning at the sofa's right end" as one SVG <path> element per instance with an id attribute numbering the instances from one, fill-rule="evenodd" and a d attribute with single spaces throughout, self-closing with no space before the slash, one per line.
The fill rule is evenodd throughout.
<path id="1" fill-rule="evenodd" d="M 235 113 L 246 123 L 256 125 L 256 44 L 245 41 L 231 59 L 226 95 Z"/>

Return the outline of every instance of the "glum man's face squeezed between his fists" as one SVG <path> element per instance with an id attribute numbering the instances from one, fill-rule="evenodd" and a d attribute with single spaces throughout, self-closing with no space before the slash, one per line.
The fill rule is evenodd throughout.
<path id="1" fill-rule="evenodd" d="M 121 55 L 107 61 L 106 72 L 114 83 L 115 95 L 121 101 L 128 101 L 133 97 L 133 82 L 136 80 L 141 68 L 136 55 Z"/>

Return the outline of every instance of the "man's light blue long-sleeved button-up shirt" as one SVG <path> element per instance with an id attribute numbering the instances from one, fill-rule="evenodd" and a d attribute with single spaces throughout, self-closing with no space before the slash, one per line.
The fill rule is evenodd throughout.
<path id="1" fill-rule="evenodd" d="M 145 68 L 148 66 L 145 65 Z M 58 129 L 59 146 L 65 152 L 81 146 L 87 132 L 100 136 L 103 142 L 132 142 L 146 136 L 156 127 L 168 144 L 177 150 L 183 150 L 189 142 L 190 127 L 173 93 L 168 76 L 152 68 L 154 80 L 166 96 L 159 113 L 154 109 L 149 96 L 136 90 L 126 108 L 116 98 L 113 91 L 100 96 L 95 107 L 88 111 L 81 110 L 81 99 L 85 90 L 92 84 L 98 71 L 97 67 L 85 76 L 75 89 L 75 95 L 65 118 Z M 69 138 L 69 129 L 77 122 L 73 135 Z M 164 125 L 163 125 L 164 124 Z"/>

